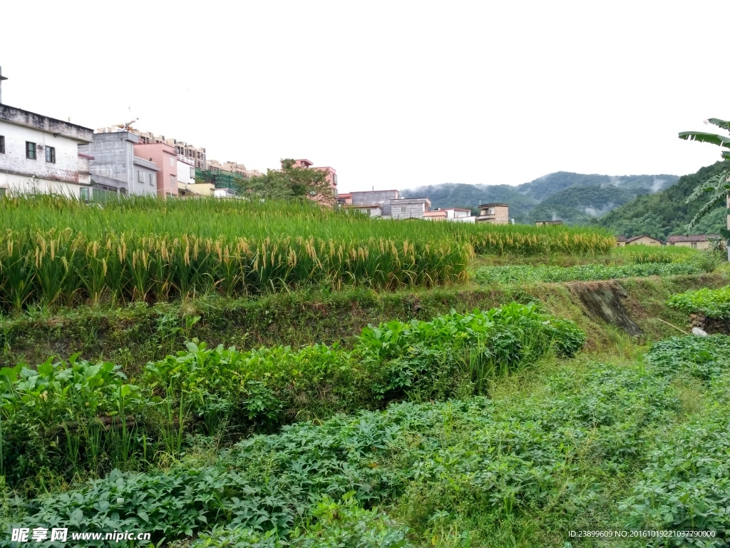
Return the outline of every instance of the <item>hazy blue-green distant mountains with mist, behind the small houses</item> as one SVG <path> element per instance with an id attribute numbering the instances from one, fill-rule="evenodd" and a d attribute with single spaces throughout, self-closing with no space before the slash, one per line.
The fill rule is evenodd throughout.
<path id="1" fill-rule="evenodd" d="M 586 224 L 631 199 L 666 189 L 677 175 L 585 175 L 556 172 L 510 185 L 443 183 L 401 191 L 407 198 L 429 197 L 435 208 L 476 208 L 479 204 L 504 202 L 510 217 L 520 223 L 559 218 L 568 224 Z"/>

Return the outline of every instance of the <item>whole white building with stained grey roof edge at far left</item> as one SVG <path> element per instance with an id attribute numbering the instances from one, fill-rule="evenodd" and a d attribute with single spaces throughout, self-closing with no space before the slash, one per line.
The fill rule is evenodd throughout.
<path id="1" fill-rule="evenodd" d="M 91 140 L 89 128 L 0 104 L 0 194 L 80 198 L 91 155 L 79 156 L 79 145 Z"/>

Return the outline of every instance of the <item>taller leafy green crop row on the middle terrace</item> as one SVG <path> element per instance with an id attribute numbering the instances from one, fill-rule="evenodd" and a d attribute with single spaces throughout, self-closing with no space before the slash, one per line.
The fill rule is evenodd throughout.
<path id="1" fill-rule="evenodd" d="M 0 471 L 9 484 L 100 473 L 177 455 L 190 432 L 240 437 L 393 400 L 482 394 L 549 351 L 571 355 L 585 334 L 535 305 L 450 313 L 367 327 L 353 351 L 314 345 L 187 351 L 147 364 L 69 362 L 0 370 Z"/>

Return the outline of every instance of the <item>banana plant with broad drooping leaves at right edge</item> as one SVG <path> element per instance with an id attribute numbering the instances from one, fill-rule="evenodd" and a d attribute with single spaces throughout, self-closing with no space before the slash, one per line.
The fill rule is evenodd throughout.
<path id="1" fill-rule="evenodd" d="M 714 126 L 718 126 L 726 131 L 730 132 L 730 122 L 721 120 L 720 118 L 710 118 L 705 120 L 704 123 L 712 123 Z M 730 149 L 730 137 L 724 135 L 718 135 L 715 133 L 706 132 L 681 132 L 679 134 L 680 139 L 688 141 L 700 141 L 700 142 L 711 142 L 713 145 L 718 145 L 723 148 Z M 730 159 L 730 150 L 721 151 L 723 159 Z M 696 224 L 704 217 L 720 217 L 730 214 L 730 209 L 722 208 L 721 210 L 714 211 L 718 206 L 727 205 L 728 194 L 730 193 L 730 169 L 723 170 L 718 175 L 711 177 L 710 179 L 700 183 L 691 196 L 688 197 L 687 203 L 694 202 L 706 194 L 710 194 L 707 202 L 700 208 L 694 218 L 689 222 L 686 227 L 687 233 L 696 226 Z M 730 240 L 730 230 L 726 228 L 720 229 L 721 235 L 726 239 Z M 730 254 L 730 248 L 729 248 Z M 730 256 L 730 255 L 729 255 Z"/>

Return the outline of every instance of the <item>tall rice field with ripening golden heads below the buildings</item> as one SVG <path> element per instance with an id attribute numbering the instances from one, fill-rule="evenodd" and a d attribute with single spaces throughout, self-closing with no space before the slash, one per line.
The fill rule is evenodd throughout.
<path id="1" fill-rule="evenodd" d="M 597 229 L 383 221 L 299 202 L 0 200 L 0 311 L 302 287 L 439 286 L 474 254 L 602 254 Z"/>

